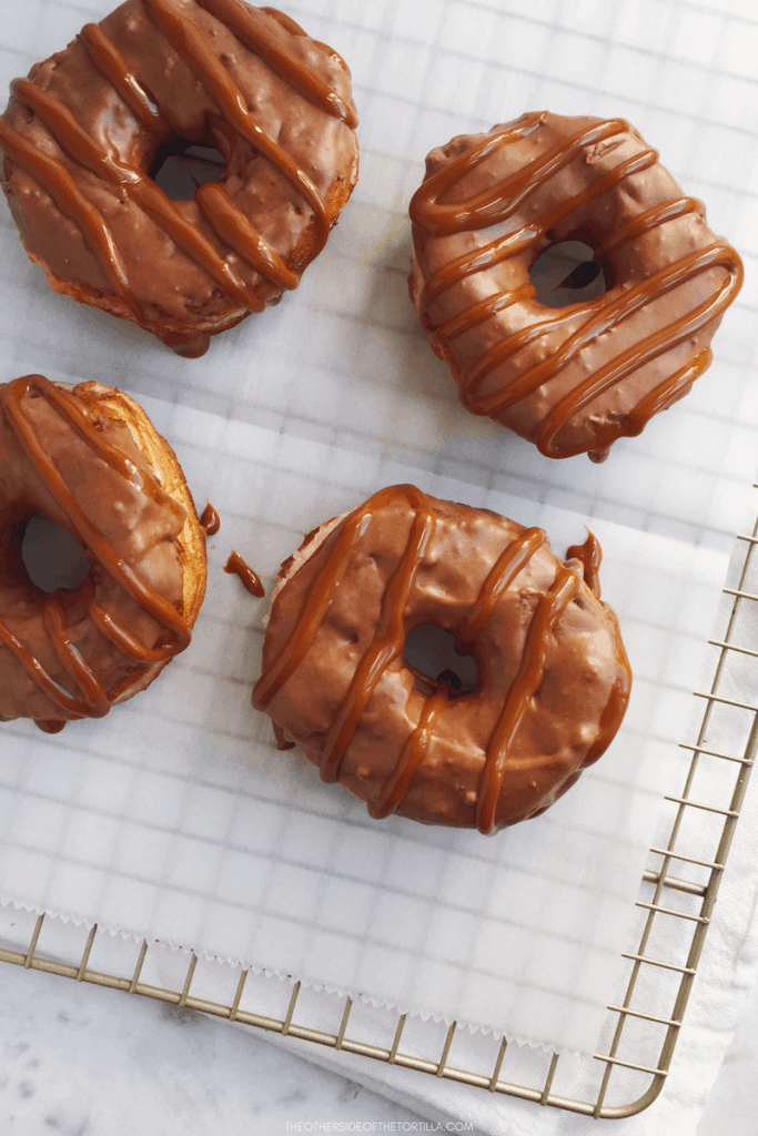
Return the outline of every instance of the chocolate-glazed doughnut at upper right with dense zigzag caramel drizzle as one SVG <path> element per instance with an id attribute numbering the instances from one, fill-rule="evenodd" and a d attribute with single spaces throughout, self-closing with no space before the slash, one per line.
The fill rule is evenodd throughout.
<path id="1" fill-rule="evenodd" d="M 742 284 L 658 153 L 620 118 L 522 115 L 432 150 L 410 203 L 410 294 L 464 406 L 549 458 L 601 461 L 690 390 Z M 530 268 L 589 244 L 606 278 L 560 311 Z"/>

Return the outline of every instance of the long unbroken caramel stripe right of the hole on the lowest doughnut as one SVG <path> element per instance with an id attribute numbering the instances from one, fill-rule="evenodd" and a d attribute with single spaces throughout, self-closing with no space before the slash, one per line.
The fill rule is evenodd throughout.
<path id="1" fill-rule="evenodd" d="M 540 596 L 526 635 L 518 674 L 508 692 L 490 738 L 476 802 L 476 826 L 485 835 L 494 832 L 498 800 L 506 776 L 510 747 L 544 676 L 552 630 L 581 587 L 580 569 L 559 566 L 550 591 Z"/>

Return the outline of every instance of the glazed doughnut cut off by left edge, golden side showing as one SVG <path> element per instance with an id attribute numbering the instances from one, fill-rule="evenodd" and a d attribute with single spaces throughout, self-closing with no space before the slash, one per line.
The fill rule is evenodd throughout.
<path id="1" fill-rule="evenodd" d="M 44 513 L 90 565 L 45 594 L 22 558 Z M 57 733 L 144 690 L 191 637 L 206 534 L 176 457 L 113 387 L 0 385 L 0 720 Z"/>

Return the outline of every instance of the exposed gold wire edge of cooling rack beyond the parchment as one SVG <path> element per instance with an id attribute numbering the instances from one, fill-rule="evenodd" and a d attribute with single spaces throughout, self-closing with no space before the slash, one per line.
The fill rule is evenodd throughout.
<path id="1" fill-rule="evenodd" d="M 758 485 L 753 487 L 758 488 Z M 425 1026 L 428 1034 L 426 1052 L 424 1051 L 423 1036 L 419 1039 L 417 1022 L 414 1025 L 413 1044 L 406 1044 L 403 1047 L 403 1035 L 406 1038 L 408 1037 L 406 1014 L 397 1019 L 391 1045 L 383 1047 L 368 1044 L 351 1036 L 353 1003 L 350 997 L 343 999 L 340 1003 L 342 1016 L 335 1033 L 311 1028 L 299 1020 L 300 983 L 295 983 L 292 987 L 289 1005 L 283 1017 L 269 1017 L 241 1005 L 249 976 L 247 970 L 241 970 L 236 993 L 228 1004 L 193 995 L 192 984 L 198 963 L 198 958 L 193 953 L 190 957 L 181 989 L 168 989 L 141 982 L 141 974 L 149 951 L 147 942 L 142 943 L 132 974 L 119 977 L 90 969 L 90 955 L 98 935 L 97 925 L 89 932 L 83 953 L 74 962 L 67 963 L 44 958 L 38 953 L 44 916 L 36 919 L 26 951 L 0 949 L 0 961 L 74 978 L 76 982 L 113 987 L 127 994 L 141 994 L 144 997 L 198 1010 L 256 1029 L 302 1038 L 315 1045 L 325 1045 L 334 1050 L 356 1053 L 390 1066 L 415 1069 L 434 1077 L 475 1086 L 484 1092 L 516 1096 L 588 1117 L 620 1119 L 641 1112 L 656 1100 L 664 1087 L 670 1068 L 758 746 L 758 704 L 739 701 L 722 693 L 724 688 L 728 687 L 728 668 L 730 662 L 734 659 L 739 659 L 742 666 L 745 662 L 753 666 L 758 678 L 758 650 L 735 642 L 741 637 L 740 627 L 741 623 L 744 621 L 742 617 L 745 613 L 750 615 L 755 611 L 756 626 L 758 626 L 758 594 L 748 590 L 751 569 L 753 574 L 758 569 L 757 545 L 758 519 L 750 535 L 738 536 L 738 548 L 742 550 L 742 565 L 738 571 L 736 586 L 723 588 L 723 593 L 728 598 L 731 604 L 724 635 L 722 638 L 709 641 L 711 646 L 717 650 L 714 678 L 709 691 L 694 692 L 698 699 L 705 700 L 697 741 L 682 743 L 683 750 L 690 753 L 684 787 L 680 795 L 666 796 L 669 805 L 674 807 L 669 837 L 665 846 L 653 846 L 650 850 L 653 858 L 651 862 L 656 867 L 643 874 L 640 895 L 636 900 L 638 921 L 633 928 L 633 949 L 623 952 L 627 968 L 624 975 L 625 993 L 618 1004 L 608 1005 L 608 1019 L 603 1031 L 603 1039 L 607 1044 L 603 1044 L 601 1051 L 592 1058 L 575 1059 L 555 1052 L 544 1053 L 544 1070 L 540 1081 L 531 1086 L 519 1084 L 518 1076 L 515 1076 L 514 1069 L 510 1068 L 513 1053 L 518 1050 L 518 1046 L 511 1046 L 509 1050 L 505 1038 L 499 1043 L 493 1041 L 493 1061 L 484 1072 L 481 1068 L 476 1070 L 464 1068 L 464 1062 L 456 1060 L 457 1026 L 455 1022 L 447 1029 L 447 1033 L 444 1033 L 444 1027 L 432 1021 Z M 747 608 L 756 607 L 747 612 L 745 605 Z M 756 683 L 756 690 L 758 690 L 758 683 Z M 747 737 L 747 741 L 741 746 L 741 752 L 726 752 L 707 745 L 708 729 L 714 715 L 723 716 L 724 712 L 730 711 L 742 716 L 742 737 Z M 748 716 L 747 721 L 745 715 Z M 727 791 L 723 804 L 717 805 L 709 801 L 697 800 L 692 795 L 699 766 L 706 761 L 723 763 L 723 768 L 727 772 L 725 782 Z M 730 797 L 728 804 L 725 803 L 727 797 Z M 717 851 L 713 859 L 705 859 L 700 854 L 694 855 L 691 849 L 688 851 L 688 819 L 693 810 L 705 810 L 710 815 L 711 824 L 716 825 L 714 842 L 717 845 Z M 670 875 L 669 869 L 673 861 L 682 863 L 686 870 L 699 878 L 683 879 Z M 677 958 L 670 955 L 670 950 L 668 957 L 665 957 L 666 952 L 656 946 L 657 922 L 665 919 L 674 920 L 680 925 L 677 929 L 681 930 L 681 934 L 676 939 L 680 951 Z M 83 934 L 85 932 L 86 929 Z M 668 943 L 670 944 L 670 935 Z M 245 1002 L 248 1001 L 245 999 Z M 300 1005 L 302 1006 L 302 1000 L 300 1000 Z M 670 1009 L 666 1010 L 666 1005 Z M 622 1056 L 620 1054 L 625 1052 L 625 1041 L 633 1033 L 635 1024 L 644 1026 L 647 1030 L 643 1035 L 643 1044 L 648 1047 L 647 1054 L 640 1052 L 638 1038 L 636 1049 L 634 1042 L 632 1044 L 631 1056 L 628 1054 Z M 532 1053 L 531 1058 L 534 1060 L 535 1054 Z M 572 1085 L 580 1083 L 583 1086 L 583 1099 L 563 1095 L 555 1087 L 561 1080 L 561 1062 L 576 1060 L 581 1060 L 584 1068 L 578 1070 L 577 1076 L 576 1066 L 573 1066 L 570 1083 Z M 515 1064 L 517 1074 L 518 1062 Z M 619 1076 L 622 1077 L 620 1097 L 624 1101 L 623 1103 L 609 1103 L 609 1100 L 613 1101 L 614 1097 L 619 1099 L 618 1086 L 614 1085 L 614 1078 L 618 1079 Z M 632 1077 L 631 1080 L 630 1077 Z M 625 1081 L 624 1078 L 626 1078 Z M 625 1091 L 632 1086 L 634 1091 L 626 1092 L 626 1096 L 632 1099 L 626 1100 Z M 616 1091 L 611 1093 L 611 1088 Z"/>

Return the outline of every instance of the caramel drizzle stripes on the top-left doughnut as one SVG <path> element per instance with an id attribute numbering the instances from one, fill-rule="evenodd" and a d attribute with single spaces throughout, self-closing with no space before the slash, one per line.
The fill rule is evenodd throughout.
<path id="1" fill-rule="evenodd" d="M 316 251 L 328 235 L 326 203 L 311 178 L 263 130 L 245 105 L 244 98 L 210 49 L 192 20 L 175 10 L 169 0 L 142 0 L 150 17 L 168 42 L 198 76 L 216 101 L 235 133 L 266 157 L 289 179 L 313 210 L 316 228 Z M 348 126 L 356 124 L 353 112 L 336 92 L 298 59 L 284 43 L 278 43 L 258 16 L 239 0 L 202 0 L 202 7 L 233 31 L 250 50 L 256 51 L 280 77 L 288 81 L 327 114 Z M 123 55 L 97 24 L 82 30 L 81 40 L 98 69 L 124 99 L 138 122 L 153 133 L 167 130 L 160 108 L 155 107 L 136 77 L 130 72 Z M 39 116 L 60 148 L 85 169 L 118 186 L 143 212 L 242 307 L 263 311 L 265 301 L 232 269 L 215 245 L 183 216 L 163 191 L 135 166 L 118 161 L 80 127 L 67 107 L 28 80 L 11 85 L 15 97 Z M 0 119 L 0 145 L 17 165 L 25 167 L 53 199 L 59 210 L 77 223 L 92 252 L 101 261 L 119 299 L 138 323 L 143 323 L 140 304 L 130 286 L 124 264 L 113 233 L 98 209 L 80 192 L 70 174 L 49 154 L 43 153 L 5 119 Z M 294 289 L 298 276 L 288 269 L 278 253 L 255 232 L 244 215 L 230 200 L 225 190 L 207 183 L 198 189 L 198 206 L 233 252 L 245 259 L 257 273 L 278 289 Z M 174 345 L 174 344 L 172 344 Z M 176 345 L 178 349 L 181 344 Z"/>

